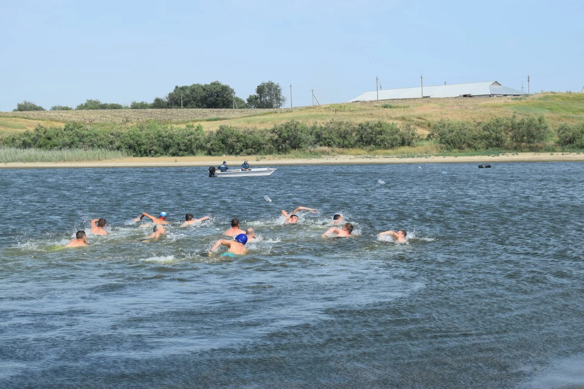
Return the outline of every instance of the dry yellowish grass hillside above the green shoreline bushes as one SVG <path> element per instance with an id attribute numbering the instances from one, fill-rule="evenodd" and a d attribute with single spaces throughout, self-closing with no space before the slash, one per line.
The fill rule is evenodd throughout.
<path id="1" fill-rule="evenodd" d="M 307 124 L 329 120 L 364 122 L 371 120 L 409 122 L 420 134 L 440 119 L 483 121 L 516 114 L 544 115 L 552 127 L 564 122 L 584 121 L 584 93 L 539 93 L 529 97 L 486 97 L 449 99 L 380 100 L 357 103 L 328 104 L 279 110 L 91 110 L 1 112 L 0 131 L 24 131 L 43 125 L 78 122 L 131 123 L 144 120 L 201 124 L 204 129 L 220 125 L 267 128 L 288 120 Z"/>

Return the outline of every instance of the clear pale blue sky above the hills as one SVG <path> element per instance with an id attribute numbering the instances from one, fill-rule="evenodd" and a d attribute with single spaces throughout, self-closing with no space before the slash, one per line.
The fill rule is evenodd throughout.
<path id="1" fill-rule="evenodd" d="M 290 106 L 497 80 L 584 86 L 582 1 L 0 1 L 0 111 L 277 82 Z"/>

